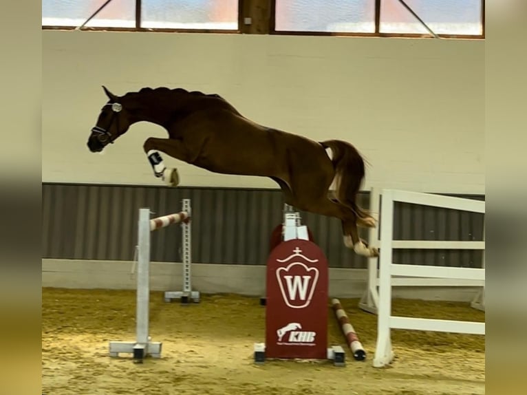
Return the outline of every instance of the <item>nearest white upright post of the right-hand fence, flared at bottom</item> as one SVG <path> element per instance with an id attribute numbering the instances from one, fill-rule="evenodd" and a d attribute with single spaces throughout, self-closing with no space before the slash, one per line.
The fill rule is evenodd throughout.
<path id="1" fill-rule="evenodd" d="M 379 303 L 377 306 L 377 346 L 374 367 L 387 365 L 391 361 L 390 316 L 391 316 L 391 242 L 394 237 L 394 199 L 390 190 L 383 191 L 380 209 L 380 259 L 379 259 Z"/>

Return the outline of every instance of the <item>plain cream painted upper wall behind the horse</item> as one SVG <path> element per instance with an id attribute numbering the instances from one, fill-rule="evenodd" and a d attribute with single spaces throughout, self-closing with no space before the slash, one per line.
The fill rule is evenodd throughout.
<path id="1" fill-rule="evenodd" d="M 142 151 L 160 127 L 89 153 L 100 85 L 215 92 L 264 125 L 348 140 L 365 189 L 484 193 L 484 41 L 43 31 L 43 182 L 160 185 Z M 277 187 L 166 163 L 184 186 Z"/>

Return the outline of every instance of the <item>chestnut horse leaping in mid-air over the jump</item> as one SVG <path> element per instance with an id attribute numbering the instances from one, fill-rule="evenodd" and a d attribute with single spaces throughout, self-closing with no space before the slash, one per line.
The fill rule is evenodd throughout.
<path id="1" fill-rule="evenodd" d="M 358 237 L 357 225 L 374 227 L 375 221 L 356 204 L 365 166 L 348 142 L 316 142 L 258 125 L 217 94 L 159 87 L 116 96 L 103 89 L 109 100 L 88 138 L 90 151 L 102 151 L 136 122 L 152 122 L 169 138 L 147 138 L 144 152 L 154 175 L 169 186 L 179 184 L 178 171 L 165 167 L 160 152 L 215 173 L 271 178 L 287 204 L 338 218 L 345 246 L 359 255 L 378 256 Z M 336 190 L 330 197 L 333 181 Z"/>

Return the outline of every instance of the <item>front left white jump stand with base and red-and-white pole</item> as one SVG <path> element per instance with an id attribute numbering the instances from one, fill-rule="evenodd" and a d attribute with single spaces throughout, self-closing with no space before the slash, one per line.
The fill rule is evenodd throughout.
<path id="1" fill-rule="evenodd" d="M 136 341 L 110 341 L 110 356 L 132 353 L 133 359 L 142 361 L 147 356 L 160 358 L 162 343 L 151 341 L 149 336 L 150 301 L 150 233 L 178 222 L 189 222 L 188 213 L 164 215 L 150 219 L 150 209 L 139 209 L 138 220 L 138 265 L 136 289 Z"/>

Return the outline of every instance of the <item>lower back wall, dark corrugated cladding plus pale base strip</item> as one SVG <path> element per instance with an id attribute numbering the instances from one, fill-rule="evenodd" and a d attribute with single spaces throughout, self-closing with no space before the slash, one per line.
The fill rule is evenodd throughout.
<path id="1" fill-rule="evenodd" d="M 272 230 L 281 223 L 281 193 L 269 189 L 164 188 L 93 184 L 43 184 L 43 286 L 133 288 L 138 208 L 153 213 L 193 209 L 193 284 L 201 292 L 261 295 Z M 463 195 L 481 200 L 482 196 Z M 358 202 L 367 207 L 369 194 Z M 330 265 L 330 290 L 336 297 L 358 297 L 365 288 L 366 259 L 345 248 L 334 218 L 302 213 Z M 397 239 L 480 240 L 483 217 L 447 209 L 396 204 Z M 362 237 L 367 239 L 363 231 Z M 181 232 L 169 226 L 151 235 L 154 290 L 181 288 Z M 471 250 L 397 250 L 406 264 L 480 267 L 482 254 Z M 475 288 L 401 289 L 400 297 L 470 300 Z"/>

